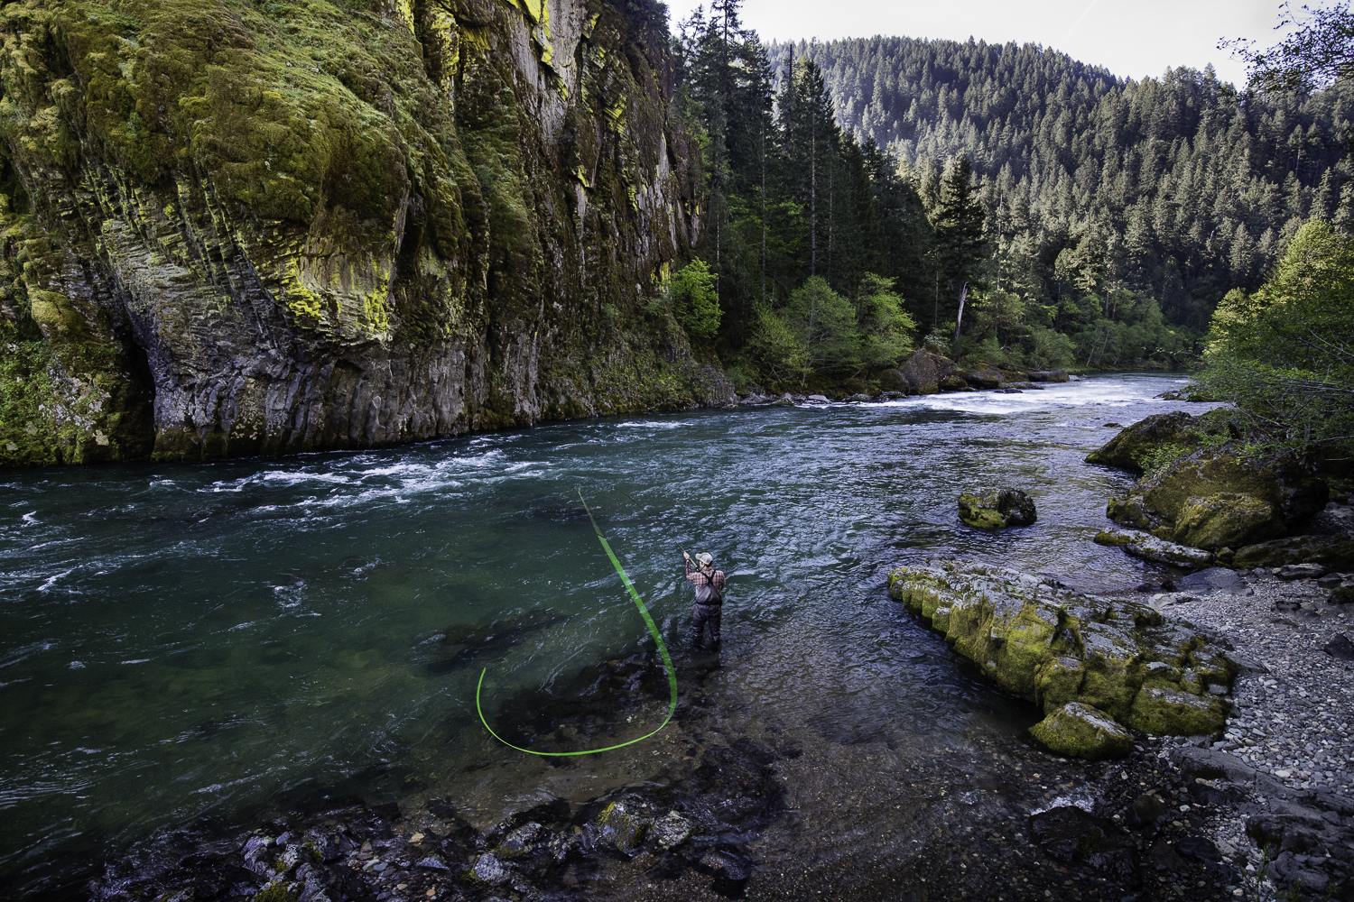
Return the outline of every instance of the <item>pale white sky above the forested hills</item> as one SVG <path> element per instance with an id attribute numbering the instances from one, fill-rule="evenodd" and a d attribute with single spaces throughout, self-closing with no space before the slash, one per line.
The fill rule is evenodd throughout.
<path id="1" fill-rule="evenodd" d="M 1116 76 L 1160 76 L 1167 66 L 1202 69 L 1240 85 L 1246 66 L 1217 49 L 1220 38 L 1269 46 L 1278 38 L 1280 0 L 746 0 L 743 24 L 762 39 L 969 35 L 988 43 L 1041 43 Z M 697 0 L 668 0 L 673 24 Z M 1294 3 L 1294 5 L 1298 5 Z M 1317 4 L 1312 4 L 1317 5 Z"/>

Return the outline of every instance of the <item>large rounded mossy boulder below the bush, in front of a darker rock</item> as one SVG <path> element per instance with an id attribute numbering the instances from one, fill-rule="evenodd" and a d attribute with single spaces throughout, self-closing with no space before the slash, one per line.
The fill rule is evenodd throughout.
<path id="1" fill-rule="evenodd" d="M 1326 483 L 1298 469 L 1262 468 L 1227 449 L 1202 449 L 1144 476 L 1106 515 L 1121 526 L 1217 550 L 1284 536 L 1326 507 Z"/>

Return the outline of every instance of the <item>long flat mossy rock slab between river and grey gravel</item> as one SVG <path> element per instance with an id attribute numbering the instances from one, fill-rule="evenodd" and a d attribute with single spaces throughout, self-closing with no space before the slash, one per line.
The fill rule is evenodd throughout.
<path id="1" fill-rule="evenodd" d="M 1229 690 L 1236 665 L 1210 634 L 1148 606 L 953 561 L 898 568 L 888 588 L 955 652 L 1045 714 L 1080 702 L 1150 733 L 1223 728 L 1227 703 L 1209 687 Z"/>

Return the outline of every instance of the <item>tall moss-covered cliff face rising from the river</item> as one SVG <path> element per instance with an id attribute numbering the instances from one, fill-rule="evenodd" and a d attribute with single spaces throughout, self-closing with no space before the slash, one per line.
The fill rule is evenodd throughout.
<path id="1" fill-rule="evenodd" d="M 607 0 L 0 9 L 0 465 L 723 400 L 662 37 Z"/>

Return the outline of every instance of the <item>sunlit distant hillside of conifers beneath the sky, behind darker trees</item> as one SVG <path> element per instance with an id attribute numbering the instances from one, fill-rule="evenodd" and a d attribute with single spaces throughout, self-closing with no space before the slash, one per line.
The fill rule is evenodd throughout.
<path id="1" fill-rule="evenodd" d="M 789 53 L 773 45 L 773 65 Z M 1041 258 L 1071 246 L 1183 325 L 1255 287 L 1308 216 L 1349 216 L 1350 85 L 1238 96 L 1210 68 L 1133 81 L 1014 43 L 869 38 L 796 54 L 822 66 L 845 130 L 923 180 L 967 154 L 994 237 L 1030 235 Z"/>

